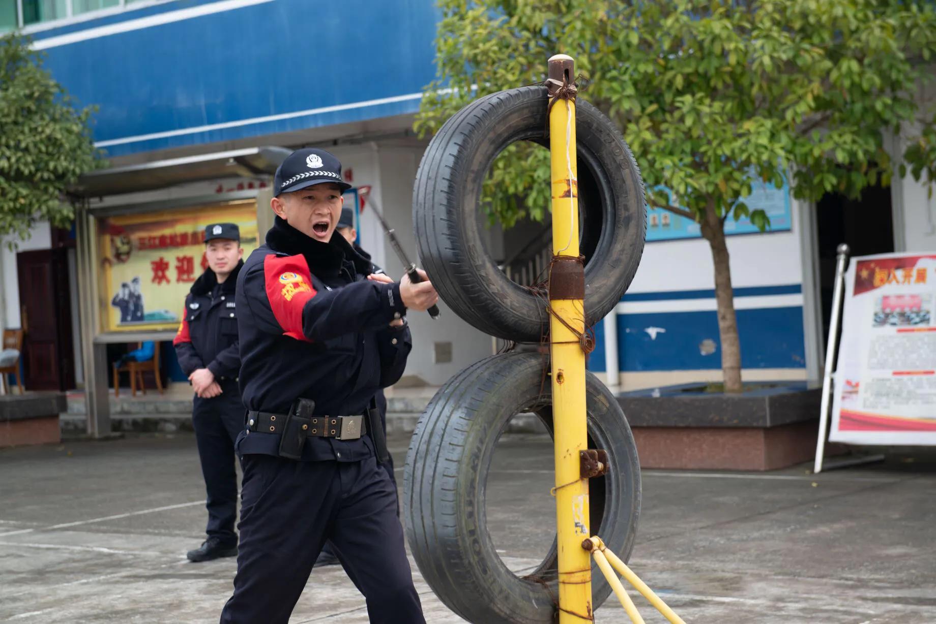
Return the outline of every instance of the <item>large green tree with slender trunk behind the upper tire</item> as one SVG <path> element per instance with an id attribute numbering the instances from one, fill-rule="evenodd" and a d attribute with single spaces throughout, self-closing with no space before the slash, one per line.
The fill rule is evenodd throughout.
<path id="1" fill-rule="evenodd" d="M 651 206 L 694 219 L 715 273 L 725 389 L 741 389 L 727 219 L 762 231 L 753 184 L 814 201 L 888 184 L 896 167 L 936 181 L 936 11 L 907 0 L 441 0 L 438 80 L 416 127 L 434 132 L 475 97 L 544 80 L 570 54 L 591 79 L 581 94 L 618 124 Z M 904 133 L 902 154 L 885 137 Z M 910 133 L 908 136 L 907 133 Z M 903 170 L 901 169 L 901 175 Z M 490 211 L 509 226 L 548 210 L 545 150 L 513 146 L 495 160 Z M 533 184 L 527 181 L 536 181 Z M 539 188 L 542 186 L 542 188 Z M 522 197 L 517 201 L 516 197 Z"/>

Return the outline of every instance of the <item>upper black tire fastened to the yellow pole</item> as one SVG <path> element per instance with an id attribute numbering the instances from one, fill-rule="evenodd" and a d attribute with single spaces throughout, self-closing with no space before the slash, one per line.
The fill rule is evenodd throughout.
<path id="1" fill-rule="evenodd" d="M 509 280 L 480 236 L 481 184 L 491 162 L 519 140 L 548 146 L 546 87 L 490 94 L 449 119 L 423 154 L 413 190 L 419 258 L 442 299 L 481 331 L 511 341 L 539 341 L 545 304 Z M 577 102 L 580 249 L 585 256 L 585 312 L 591 327 L 621 300 L 634 279 L 647 236 L 643 181 L 614 124 Z"/>

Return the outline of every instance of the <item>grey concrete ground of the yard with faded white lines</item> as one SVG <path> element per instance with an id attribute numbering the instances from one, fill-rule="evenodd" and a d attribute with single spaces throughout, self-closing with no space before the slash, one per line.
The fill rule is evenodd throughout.
<path id="1" fill-rule="evenodd" d="M 401 482 L 406 443 L 391 439 Z M 524 568 L 551 539 L 551 450 L 534 435 L 502 447 L 490 531 Z M 818 476 L 646 471 L 631 567 L 690 623 L 936 622 L 931 457 Z M 216 622 L 235 561 L 184 559 L 203 539 L 203 499 L 190 433 L 0 451 L 0 621 Z M 427 621 L 461 622 L 414 573 Z M 309 586 L 292 622 L 368 621 L 341 568 Z M 613 598 L 596 616 L 627 621 Z"/>

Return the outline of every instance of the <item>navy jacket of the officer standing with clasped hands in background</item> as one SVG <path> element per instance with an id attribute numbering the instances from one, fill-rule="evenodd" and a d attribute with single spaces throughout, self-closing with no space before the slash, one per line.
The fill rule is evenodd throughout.
<path id="1" fill-rule="evenodd" d="M 211 268 L 205 270 L 185 297 L 182 324 L 172 344 L 186 375 L 207 368 L 218 381 L 237 378 L 241 354 L 237 334 L 234 291 L 243 261 L 219 284 Z"/>

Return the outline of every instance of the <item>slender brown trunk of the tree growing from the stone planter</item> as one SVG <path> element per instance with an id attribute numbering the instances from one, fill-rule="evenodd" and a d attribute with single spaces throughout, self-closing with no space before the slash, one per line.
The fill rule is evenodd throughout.
<path id="1" fill-rule="evenodd" d="M 731 267 L 728 264 L 728 247 L 724 243 L 724 223 L 715 212 L 712 200 L 706 206 L 701 225 L 702 236 L 709 241 L 715 266 L 715 301 L 718 305 L 718 332 L 722 341 L 724 391 L 740 392 L 741 343 L 735 316 L 735 297 L 731 290 Z"/>

